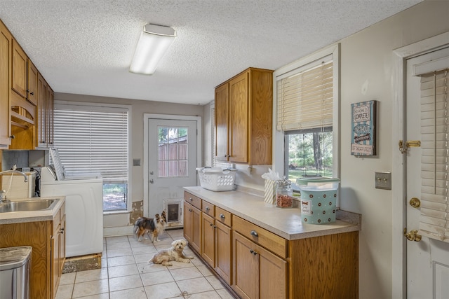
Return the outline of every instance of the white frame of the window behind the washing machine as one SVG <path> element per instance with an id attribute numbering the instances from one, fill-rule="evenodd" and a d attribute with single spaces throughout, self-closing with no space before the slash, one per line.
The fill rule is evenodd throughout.
<path id="1" fill-rule="evenodd" d="M 84 107 L 103 107 L 105 109 L 110 109 L 110 108 L 118 108 L 118 109 L 127 109 L 128 110 L 128 157 L 127 157 L 127 167 L 128 167 L 128 193 L 127 193 L 127 197 L 128 197 L 128 202 L 127 202 L 127 207 L 126 209 L 122 209 L 122 210 L 112 210 L 112 211 L 102 211 L 103 215 L 109 215 L 109 214 L 128 214 L 130 211 L 132 211 L 132 202 L 130 201 L 131 198 L 133 198 L 133 186 L 132 186 L 132 172 L 131 172 L 131 153 L 133 151 L 132 148 L 132 142 L 131 142 L 131 137 L 132 137 L 132 115 L 133 115 L 133 109 L 131 105 L 123 105 L 123 104 L 109 104 L 109 103 L 92 103 L 92 102 L 72 102 L 72 101 L 63 101 L 63 100 L 56 100 L 55 99 L 55 108 L 57 106 L 84 106 Z M 103 182 L 104 184 L 104 182 Z"/>

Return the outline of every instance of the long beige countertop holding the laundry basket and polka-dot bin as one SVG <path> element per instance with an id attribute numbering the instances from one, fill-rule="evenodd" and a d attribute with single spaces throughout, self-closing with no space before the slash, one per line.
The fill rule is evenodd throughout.
<path id="1" fill-rule="evenodd" d="M 268 204 L 263 197 L 257 195 L 239 190 L 214 192 L 199 186 L 184 189 L 284 239 L 304 239 L 361 230 L 360 214 L 338 210 L 334 223 L 304 224 L 299 208 L 277 208 L 275 204 Z"/>

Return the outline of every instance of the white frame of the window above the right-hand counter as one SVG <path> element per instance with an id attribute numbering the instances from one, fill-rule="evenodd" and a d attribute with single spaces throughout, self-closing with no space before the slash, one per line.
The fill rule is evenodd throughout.
<path id="1" fill-rule="evenodd" d="M 276 69 L 273 73 L 273 170 L 286 175 L 285 133 L 276 129 L 278 117 L 278 88 L 277 82 L 286 76 L 298 74 L 309 69 L 313 62 L 330 56 L 333 60 L 333 176 L 340 177 L 340 43 L 323 50 L 319 50 L 307 57 L 303 57 L 284 67 Z"/>

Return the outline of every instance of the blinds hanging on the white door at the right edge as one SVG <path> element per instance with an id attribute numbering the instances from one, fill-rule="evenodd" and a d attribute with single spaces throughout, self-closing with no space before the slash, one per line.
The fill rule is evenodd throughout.
<path id="1" fill-rule="evenodd" d="M 448 70 L 421 78 L 420 234 L 449 242 Z"/>

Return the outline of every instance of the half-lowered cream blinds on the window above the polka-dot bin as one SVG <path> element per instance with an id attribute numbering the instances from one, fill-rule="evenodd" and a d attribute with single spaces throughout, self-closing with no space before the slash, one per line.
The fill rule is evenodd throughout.
<path id="1" fill-rule="evenodd" d="M 320 62 L 277 81 L 277 130 L 333 125 L 333 62 Z"/>

